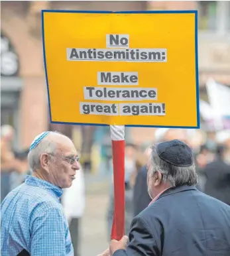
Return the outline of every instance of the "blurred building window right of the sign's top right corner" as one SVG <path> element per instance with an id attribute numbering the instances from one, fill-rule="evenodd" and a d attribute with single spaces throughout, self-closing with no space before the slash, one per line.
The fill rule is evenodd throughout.
<path id="1" fill-rule="evenodd" d="M 198 2 L 198 27 L 203 31 L 217 29 L 217 1 Z"/>

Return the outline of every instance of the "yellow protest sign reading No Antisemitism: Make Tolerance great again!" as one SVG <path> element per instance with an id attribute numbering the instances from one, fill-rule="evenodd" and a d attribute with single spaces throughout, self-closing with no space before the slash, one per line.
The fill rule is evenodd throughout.
<path id="1" fill-rule="evenodd" d="M 200 127 L 197 11 L 42 11 L 54 123 Z"/>

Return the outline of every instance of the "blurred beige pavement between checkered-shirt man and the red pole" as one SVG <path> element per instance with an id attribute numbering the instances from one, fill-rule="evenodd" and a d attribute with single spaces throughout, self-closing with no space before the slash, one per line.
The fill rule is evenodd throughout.
<path id="1" fill-rule="evenodd" d="M 86 175 L 86 209 L 82 218 L 80 256 L 96 256 L 108 246 L 107 205 L 109 200 L 108 178 Z"/>

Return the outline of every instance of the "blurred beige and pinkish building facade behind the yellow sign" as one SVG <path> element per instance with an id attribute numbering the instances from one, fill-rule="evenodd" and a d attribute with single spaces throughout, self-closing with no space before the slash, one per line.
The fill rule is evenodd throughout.
<path id="1" fill-rule="evenodd" d="M 93 141 L 93 132 L 89 128 L 74 127 L 73 133 L 71 125 L 50 125 L 42 53 L 41 9 L 198 9 L 200 96 L 207 99 L 205 82 L 210 76 L 230 86 L 229 1 L 3 1 L 1 45 L 5 48 L 1 47 L 1 124 L 10 123 L 15 127 L 19 148 L 29 147 L 34 136 L 46 129 L 57 129 L 70 137 L 74 136 L 78 147 L 82 147 L 78 139 L 84 133 L 89 141 L 85 143 L 89 145 L 84 151 L 90 149 Z M 154 129 L 129 128 L 127 134 L 135 143 L 142 143 L 152 139 Z"/>

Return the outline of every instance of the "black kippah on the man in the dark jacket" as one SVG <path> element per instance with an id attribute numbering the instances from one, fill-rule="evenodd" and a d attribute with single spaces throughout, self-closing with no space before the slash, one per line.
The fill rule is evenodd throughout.
<path id="1" fill-rule="evenodd" d="M 193 164 L 192 149 L 178 139 L 159 143 L 156 152 L 160 159 L 175 166 L 188 167 Z"/>

